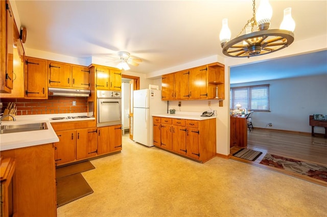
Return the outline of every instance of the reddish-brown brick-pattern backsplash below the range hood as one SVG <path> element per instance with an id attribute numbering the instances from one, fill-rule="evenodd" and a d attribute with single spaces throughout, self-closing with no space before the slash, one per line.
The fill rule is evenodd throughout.
<path id="1" fill-rule="evenodd" d="M 76 105 L 73 106 L 73 101 Z M 2 98 L 4 112 L 9 102 L 16 104 L 16 115 L 43 115 L 61 113 L 84 113 L 87 112 L 86 97 L 60 97 L 49 96 L 49 99 L 5 99 Z"/>

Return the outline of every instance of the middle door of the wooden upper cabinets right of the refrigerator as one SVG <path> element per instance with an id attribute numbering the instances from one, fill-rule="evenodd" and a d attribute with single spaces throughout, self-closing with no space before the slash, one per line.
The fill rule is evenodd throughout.
<path id="1" fill-rule="evenodd" d="M 189 79 L 190 79 L 189 70 L 175 72 L 175 98 L 176 99 L 190 98 Z"/>

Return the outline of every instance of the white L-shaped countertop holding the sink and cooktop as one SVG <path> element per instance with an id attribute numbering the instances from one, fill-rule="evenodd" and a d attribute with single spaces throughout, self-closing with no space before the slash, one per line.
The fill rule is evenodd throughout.
<path id="1" fill-rule="evenodd" d="M 0 134 L 0 151 L 59 142 L 57 134 L 52 128 L 51 123 L 95 120 L 95 118 L 87 118 L 87 119 L 79 118 L 79 119 L 63 119 L 63 120 L 50 120 L 50 118 L 66 117 L 66 116 L 83 116 L 83 115 L 87 115 L 87 114 L 70 113 L 70 114 L 49 114 L 49 115 L 17 115 L 15 116 L 16 121 L 2 121 L 2 125 L 46 123 L 48 129 Z"/>

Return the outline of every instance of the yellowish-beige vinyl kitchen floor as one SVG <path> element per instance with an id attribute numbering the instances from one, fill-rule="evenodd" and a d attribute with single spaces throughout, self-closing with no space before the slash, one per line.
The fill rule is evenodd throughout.
<path id="1" fill-rule="evenodd" d="M 327 188 L 232 159 L 204 164 L 123 135 L 82 173 L 94 193 L 58 216 L 326 216 Z"/>

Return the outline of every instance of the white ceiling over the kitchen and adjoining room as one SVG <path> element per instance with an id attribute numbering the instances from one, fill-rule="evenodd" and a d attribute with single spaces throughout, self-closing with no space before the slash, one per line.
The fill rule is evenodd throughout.
<path id="1" fill-rule="evenodd" d="M 327 1 L 270 1 L 270 4 L 273 8 L 270 29 L 279 28 L 283 10 L 292 7 L 295 41 L 326 35 Z M 138 67 L 130 69 L 139 73 L 222 56 L 219 42 L 222 19 L 228 18 L 232 37 L 235 37 L 252 17 L 250 0 L 15 1 L 15 5 L 20 24 L 27 28 L 26 50 L 108 61 L 112 59 L 106 56 L 115 56 L 124 50 L 132 57 L 143 59 Z M 256 5 L 259 6 L 259 1 Z M 326 57 L 326 52 L 320 55 Z M 265 64 L 272 64 L 280 67 L 276 70 L 283 69 L 283 74 L 288 73 L 288 69 L 294 74 L 298 65 L 312 68 L 312 65 L 301 64 L 307 58 L 297 57 L 289 61 L 283 61 L 284 58 L 271 63 L 265 61 L 255 67 L 264 71 Z M 311 58 L 316 65 L 326 67 L 325 58 Z M 231 68 L 231 79 L 233 73 L 249 77 L 248 70 L 251 71 L 247 65 Z"/>

